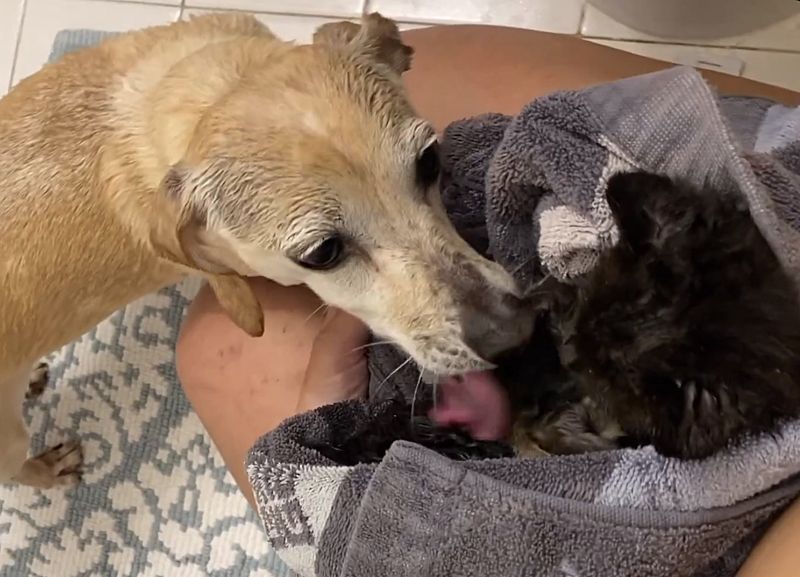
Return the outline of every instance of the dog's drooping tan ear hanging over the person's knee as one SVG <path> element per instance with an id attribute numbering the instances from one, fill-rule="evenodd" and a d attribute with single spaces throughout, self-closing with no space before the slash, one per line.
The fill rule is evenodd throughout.
<path id="1" fill-rule="evenodd" d="M 194 186 L 191 180 L 191 172 L 181 166 L 171 168 L 164 178 L 163 193 L 177 211 L 177 243 L 173 247 L 161 247 L 161 254 L 202 273 L 231 320 L 250 336 L 261 336 L 264 312 L 250 285 L 241 276 L 247 271 L 247 265 L 228 240 L 208 226 L 209 207 L 198 202 L 198 195 L 189 194 L 187 189 Z M 214 186 L 213 179 L 205 179 L 202 186 Z M 199 192 L 200 198 L 208 198 Z"/>

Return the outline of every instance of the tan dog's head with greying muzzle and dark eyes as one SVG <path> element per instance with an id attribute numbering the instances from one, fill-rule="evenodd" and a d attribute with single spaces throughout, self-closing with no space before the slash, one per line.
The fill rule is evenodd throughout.
<path id="1" fill-rule="evenodd" d="M 208 111 L 165 189 L 198 268 L 306 284 L 432 372 L 481 369 L 532 315 L 447 219 L 410 58 L 377 14 L 276 51 Z"/>

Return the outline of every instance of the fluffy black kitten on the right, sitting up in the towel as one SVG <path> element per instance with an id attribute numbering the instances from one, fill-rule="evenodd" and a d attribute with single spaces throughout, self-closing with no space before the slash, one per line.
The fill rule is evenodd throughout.
<path id="1" fill-rule="evenodd" d="M 619 243 L 551 310 L 581 396 L 682 458 L 800 415 L 797 288 L 744 201 L 648 173 L 607 199 Z"/>

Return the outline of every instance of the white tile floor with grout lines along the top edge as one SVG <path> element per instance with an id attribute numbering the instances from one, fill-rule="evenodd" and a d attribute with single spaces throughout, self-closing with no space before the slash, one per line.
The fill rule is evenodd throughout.
<path id="1" fill-rule="evenodd" d="M 210 9 L 258 13 L 280 36 L 307 41 L 331 19 L 380 10 L 404 28 L 491 23 L 581 34 L 638 54 L 716 68 L 800 90 L 800 2 L 794 17 L 733 38 L 702 41 L 633 30 L 585 0 L 0 0 L 0 94 L 46 60 L 64 28 L 128 30 Z"/>

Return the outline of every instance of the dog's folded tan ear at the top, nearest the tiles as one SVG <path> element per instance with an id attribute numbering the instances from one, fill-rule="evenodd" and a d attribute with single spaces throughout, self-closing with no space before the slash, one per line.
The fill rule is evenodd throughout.
<path id="1" fill-rule="evenodd" d="M 414 49 L 400 39 L 397 24 L 377 12 L 365 14 L 360 25 L 355 22 L 323 24 L 314 33 L 314 44 L 347 47 L 389 66 L 397 74 L 411 68 L 414 55 Z"/>

